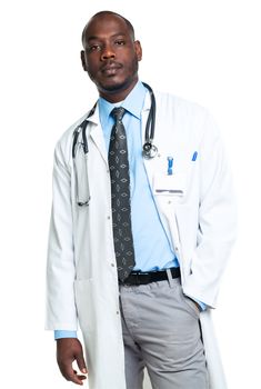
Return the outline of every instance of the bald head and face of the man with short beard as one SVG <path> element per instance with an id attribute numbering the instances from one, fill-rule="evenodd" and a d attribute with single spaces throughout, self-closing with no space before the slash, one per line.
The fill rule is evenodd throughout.
<path id="1" fill-rule="evenodd" d="M 83 47 L 83 69 L 97 84 L 100 96 L 113 96 L 133 88 L 142 51 L 122 18 L 103 14 L 91 19 Z"/>

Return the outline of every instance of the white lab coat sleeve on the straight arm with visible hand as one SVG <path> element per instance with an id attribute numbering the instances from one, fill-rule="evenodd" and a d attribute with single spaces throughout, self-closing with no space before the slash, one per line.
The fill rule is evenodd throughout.
<path id="1" fill-rule="evenodd" d="M 77 330 L 71 172 L 61 141 L 54 151 L 53 200 L 47 261 L 47 320 L 50 330 Z"/>

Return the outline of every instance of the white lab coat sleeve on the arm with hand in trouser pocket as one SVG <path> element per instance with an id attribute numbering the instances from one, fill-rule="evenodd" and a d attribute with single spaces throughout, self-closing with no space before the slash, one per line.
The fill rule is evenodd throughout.
<path id="1" fill-rule="evenodd" d="M 221 276 L 237 236 L 237 207 L 224 147 L 210 114 L 204 121 L 199 163 L 198 241 L 184 290 L 215 308 Z"/>

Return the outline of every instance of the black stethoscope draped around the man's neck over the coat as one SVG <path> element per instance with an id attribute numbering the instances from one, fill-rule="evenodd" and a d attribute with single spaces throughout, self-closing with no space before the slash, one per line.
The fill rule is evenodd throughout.
<path id="1" fill-rule="evenodd" d="M 142 157 L 144 159 L 152 159 L 158 154 L 158 148 L 153 144 L 154 140 L 154 127 L 155 127 L 155 97 L 153 90 L 148 83 L 142 82 L 150 93 L 150 111 L 145 123 L 145 141 L 142 147 Z M 72 159 L 76 171 L 77 183 L 77 203 L 79 207 L 88 206 L 90 202 L 89 181 L 87 177 L 87 162 L 88 162 L 88 141 L 87 141 L 87 126 L 89 118 L 94 113 L 97 102 L 89 112 L 88 117 L 74 129 L 72 140 Z M 81 142 L 78 142 L 81 134 Z M 79 152 L 80 151 L 80 152 Z M 81 156 L 80 156 L 81 153 Z M 83 157 L 83 158 L 82 158 Z"/>

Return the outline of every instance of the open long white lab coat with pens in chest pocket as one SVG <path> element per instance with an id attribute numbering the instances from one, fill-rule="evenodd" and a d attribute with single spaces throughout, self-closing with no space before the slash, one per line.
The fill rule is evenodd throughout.
<path id="1" fill-rule="evenodd" d="M 184 293 L 214 308 L 220 278 L 235 238 L 235 205 L 223 146 L 203 108 L 163 93 L 155 93 L 155 99 L 154 144 L 159 156 L 144 160 L 147 173 L 179 258 Z M 143 130 L 149 108 L 148 93 L 142 111 Z M 76 330 L 79 321 L 90 389 L 124 389 L 110 173 L 98 108 L 87 129 L 91 199 L 87 207 L 79 207 L 76 201 L 72 133 L 82 119 L 62 136 L 56 148 L 46 327 Z M 192 161 L 195 151 L 198 157 Z M 174 162 L 171 178 L 167 177 L 168 156 Z M 200 320 L 210 388 L 225 389 L 211 309 L 202 312 Z"/>

